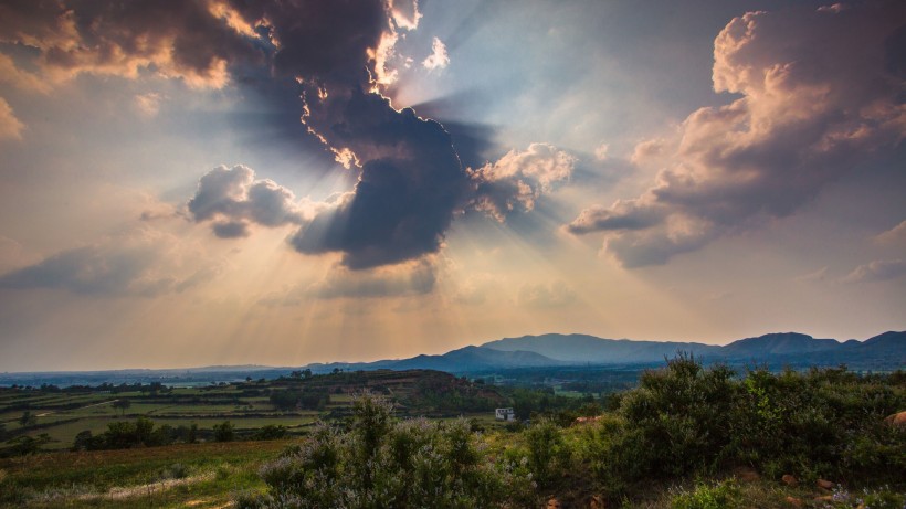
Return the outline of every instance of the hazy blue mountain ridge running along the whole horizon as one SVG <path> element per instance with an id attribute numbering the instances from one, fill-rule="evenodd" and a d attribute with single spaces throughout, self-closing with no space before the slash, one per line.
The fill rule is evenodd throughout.
<path id="1" fill-rule="evenodd" d="M 589 335 L 523 336 L 503 338 L 481 346 L 468 346 L 443 354 L 421 354 L 409 359 L 376 362 L 312 363 L 299 368 L 263 365 L 211 365 L 189 369 L 133 369 L 115 371 L 0 373 L 0 385 L 56 383 L 165 384 L 210 383 L 234 381 L 246 377 L 277 378 L 292 370 L 310 369 L 315 373 L 333 370 L 412 370 L 430 369 L 449 373 L 487 372 L 494 370 L 607 367 L 619 364 L 659 364 L 677 352 L 688 352 L 704 362 L 731 364 L 770 363 L 772 367 L 847 364 L 855 369 L 906 369 L 906 331 L 889 331 L 865 341 L 813 338 L 799 332 L 777 332 L 745 338 L 725 346 L 675 341 L 632 341 L 604 339 Z"/>

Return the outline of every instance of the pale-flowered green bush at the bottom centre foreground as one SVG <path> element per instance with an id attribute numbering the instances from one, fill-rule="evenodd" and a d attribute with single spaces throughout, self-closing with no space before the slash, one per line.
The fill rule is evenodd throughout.
<path id="1" fill-rule="evenodd" d="M 495 462 L 468 422 L 398 421 L 387 401 L 362 395 L 349 431 L 319 425 L 262 466 L 270 494 L 240 507 L 472 508 L 536 502 L 524 465 Z"/>

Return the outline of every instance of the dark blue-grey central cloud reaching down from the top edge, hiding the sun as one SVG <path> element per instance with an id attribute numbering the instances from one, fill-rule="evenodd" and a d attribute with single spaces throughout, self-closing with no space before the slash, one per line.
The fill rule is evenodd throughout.
<path id="1" fill-rule="evenodd" d="M 393 30 L 386 2 L 233 7 L 266 20 L 276 70 L 302 81 L 304 124 L 337 160 L 360 169 L 354 194 L 306 222 L 291 238 L 294 248 L 339 252 L 354 269 L 436 252 L 468 177 L 443 126 L 365 92 L 380 41 Z"/>

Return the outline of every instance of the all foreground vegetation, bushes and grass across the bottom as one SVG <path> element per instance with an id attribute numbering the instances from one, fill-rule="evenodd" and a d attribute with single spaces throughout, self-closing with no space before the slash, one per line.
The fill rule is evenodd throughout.
<path id="1" fill-rule="evenodd" d="M 371 384 L 382 395 L 359 394 L 289 442 L 129 449 L 159 454 L 135 464 L 119 450 L 0 460 L 0 503 L 105 507 L 117 503 L 113 488 L 140 486 L 145 505 L 158 507 L 224 498 L 244 508 L 533 508 L 551 498 L 583 508 L 906 505 L 906 428 L 885 423 L 906 410 L 903 372 L 735 373 L 681 356 L 636 389 L 590 402 L 456 380 L 453 400 L 524 401 L 530 423 L 409 418 L 413 395 L 443 400 L 449 391 Z M 599 415 L 575 418 L 591 413 Z M 55 462 L 67 466 L 42 470 Z M 155 479 L 159 491 L 148 488 Z M 165 489 L 159 479 L 187 480 Z M 74 495 L 60 495 L 66 490 Z"/>

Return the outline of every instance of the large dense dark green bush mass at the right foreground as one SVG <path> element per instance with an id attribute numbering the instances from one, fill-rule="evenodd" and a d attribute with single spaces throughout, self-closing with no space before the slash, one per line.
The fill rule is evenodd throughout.
<path id="1" fill-rule="evenodd" d="M 615 415 L 581 441 L 578 458 L 611 497 L 647 479 L 741 465 L 776 479 L 903 485 L 906 431 L 883 420 L 906 407 L 905 397 L 902 377 L 759 368 L 737 378 L 681 354 L 621 395 Z"/>

